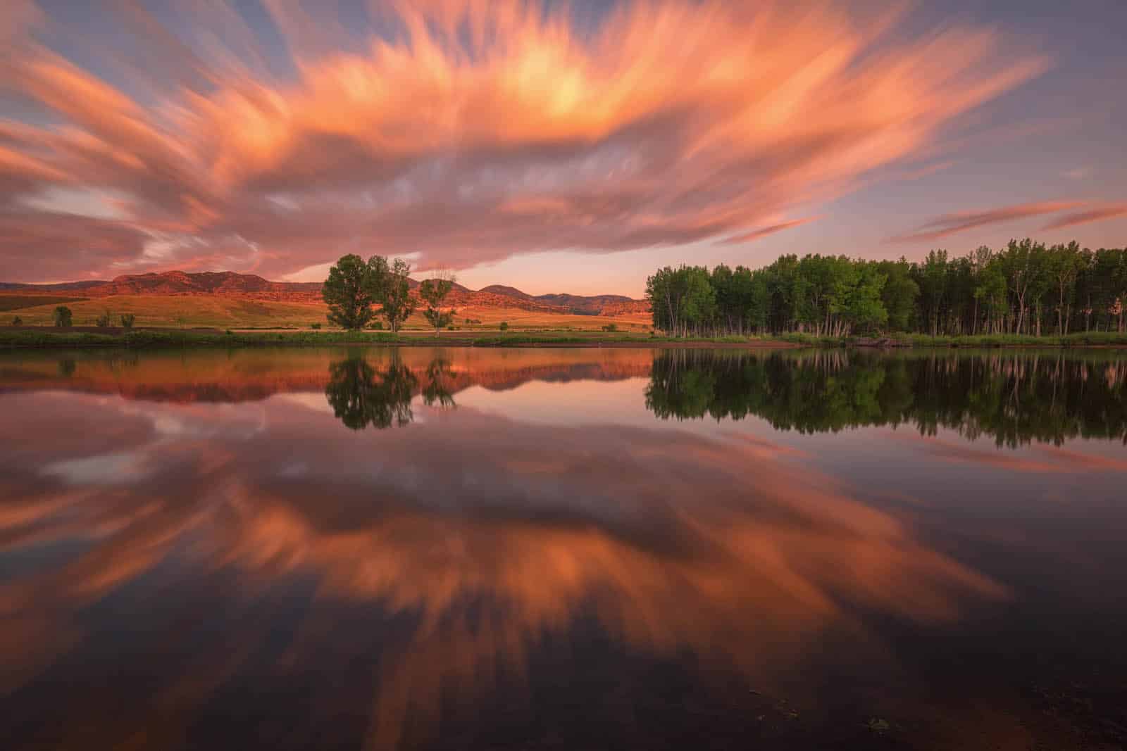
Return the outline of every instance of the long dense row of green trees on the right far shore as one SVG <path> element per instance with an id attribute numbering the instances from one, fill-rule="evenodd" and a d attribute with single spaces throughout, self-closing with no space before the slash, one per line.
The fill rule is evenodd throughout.
<path id="1" fill-rule="evenodd" d="M 654 272 L 646 297 L 654 328 L 671 336 L 1122 332 L 1127 249 L 1027 239 L 917 262 L 814 253 L 758 269 L 682 265 Z"/>

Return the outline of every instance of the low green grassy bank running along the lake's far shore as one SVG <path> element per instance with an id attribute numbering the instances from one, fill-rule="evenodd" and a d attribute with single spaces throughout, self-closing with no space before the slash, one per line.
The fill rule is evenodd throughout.
<path id="1" fill-rule="evenodd" d="M 399 334 L 381 331 L 218 331 L 218 330 L 106 330 L 59 331 L 50 327 L 0 329 L 0 347 L 260 347 L 267 345 L 416 345 L 443 347 L 603 347 L 603 346 L 727 346 L 727 347 L 849 347 L 858 339 L 810 334 L 779 337 L 690 337 L 665 338 L 637 333 L 579 332 L 447 332 L 424 331 Z M 893 338 L 912 347 L 1127 347 L 1127 333 L 1090 332 L 1066 337 L 925 337 Z"/>

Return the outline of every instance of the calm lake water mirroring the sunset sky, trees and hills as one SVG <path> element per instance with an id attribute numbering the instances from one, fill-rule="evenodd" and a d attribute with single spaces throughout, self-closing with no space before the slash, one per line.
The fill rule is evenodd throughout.
<path id="1" fill-rule="evenodd" d="M 1127 357 L 0 354 L 3 749 L 1118 749 Z"/>

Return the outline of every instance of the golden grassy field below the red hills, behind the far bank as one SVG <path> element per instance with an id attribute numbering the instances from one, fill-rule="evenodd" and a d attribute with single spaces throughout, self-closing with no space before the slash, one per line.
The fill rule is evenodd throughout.
<path id="1" fill-rule="evenodd" d="M 9 298 L 24 301 L 18 309 L 8 307 Z M 26 305 L 27 301 L 37 303 Z M 15 304 L 15 303 L 12 303 Z M 116 324 L 122 313 L 136 316 L 137 327 L 215 329 L 309 329 L 313 323 L 329 328 L 326 321 L 328 307 L 323 303 L 292 303 L 268 299 L 247 299 L 224 295 L 115 295 L 112 297 L 37 297 L 30 295 L 0 294 L 0 311 L 18 310 L 25 325 L 48 325 L 55 306 L 65 304 L 71 309 L 74 325 L 92 325 L 95 320 L 109 311 Z M 14 313 L 14 315 L 16 315 Z M 465 319 L 481 321 L 467 323 Z M 496 330 L 502 321 L 514 330 L 576 330 L 598 331 L 602 327 L 615 324 L 620 331 L 641 332 L 649 330 L 649 315 L 621 316 L 602 315 L 554 315 L 520 309 L 467 307 L 459 310 L 454 325 L 462 331 Z M 0 320 L 0 324 L 11 320 Z M 407 322 L 408 329 L 427 329 L 429 324 L 421 313 L 416 313 Z"/>

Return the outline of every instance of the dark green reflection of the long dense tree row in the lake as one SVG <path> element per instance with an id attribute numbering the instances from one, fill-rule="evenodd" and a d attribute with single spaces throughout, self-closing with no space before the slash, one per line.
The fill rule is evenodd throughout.
<path id="1" fill-rule="evenodd" d="M 654 359 L 646 404 L 663 419 L 756 415 L 804 433 L 907 423 L 1010 447 L 1076 437 L 1127 442 L 1125 384 L 1127 359 L 1063 351 L 666 350 Z"/>

